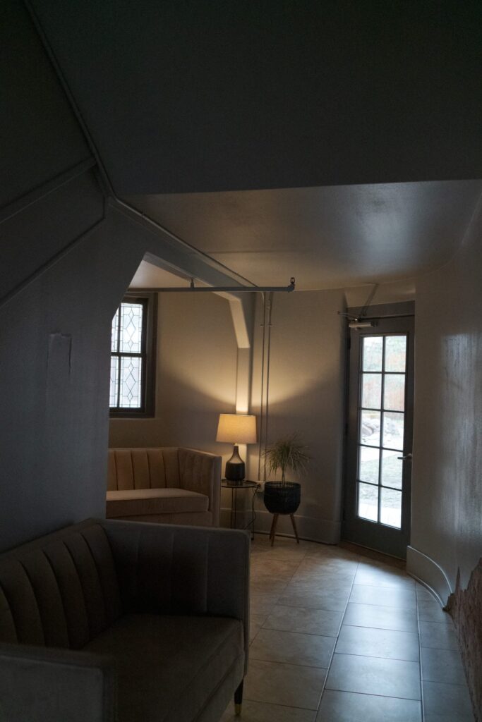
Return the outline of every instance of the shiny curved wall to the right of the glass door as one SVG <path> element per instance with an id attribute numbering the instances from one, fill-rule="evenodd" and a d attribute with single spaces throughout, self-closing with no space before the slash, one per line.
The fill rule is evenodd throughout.
<path id="1" fill-rule="evenodd" d="M 482 216 L 444 268 L 417 282 L 408 568 L 447 601 L 482 554 Z"/>

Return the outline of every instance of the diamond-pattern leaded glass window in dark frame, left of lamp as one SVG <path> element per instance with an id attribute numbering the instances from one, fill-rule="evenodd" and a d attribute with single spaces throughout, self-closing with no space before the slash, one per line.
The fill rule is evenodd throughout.
<path id="1" fill-rule="evenodd" d="M 147 380 L 152 374 L 147 333 L 149 300 L 126 298 L 112 319 L 111 334 L 111 412 L 145 414 L 147 412 Z M 153 391 L 153 390 L 152 390 Z"/>

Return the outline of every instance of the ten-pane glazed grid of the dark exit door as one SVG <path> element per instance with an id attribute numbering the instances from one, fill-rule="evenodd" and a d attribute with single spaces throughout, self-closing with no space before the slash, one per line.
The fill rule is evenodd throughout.
<path id="1" fill-rule="evenodd" d="M 356 516 L 401 529 L 407 334 L 363 336 L 358 399 Z"/>

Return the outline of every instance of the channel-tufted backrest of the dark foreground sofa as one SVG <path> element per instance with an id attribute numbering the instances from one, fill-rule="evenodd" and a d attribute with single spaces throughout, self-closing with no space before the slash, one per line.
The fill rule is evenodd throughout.
<path id="1" fill-rule="evenodd" d="M 121 613 L 111 546 L 99 524 L 0 556 L 0 642 L 80 649 Z"/>

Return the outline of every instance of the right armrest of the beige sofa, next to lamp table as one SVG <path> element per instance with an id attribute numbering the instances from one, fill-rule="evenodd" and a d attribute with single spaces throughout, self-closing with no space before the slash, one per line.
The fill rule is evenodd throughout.
<path id="1" fill-rule="evenodd" d="M 182 489 L 209 497 L 212 526 L 219 526 L 221 457 L 197 449 L 178 448 L 179 483 Z"/>

